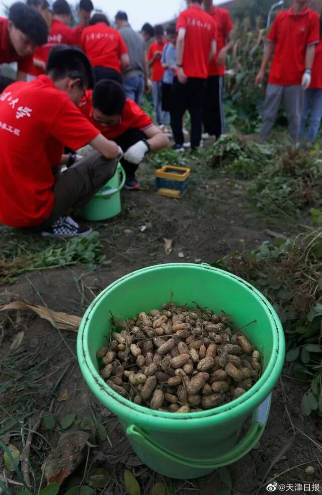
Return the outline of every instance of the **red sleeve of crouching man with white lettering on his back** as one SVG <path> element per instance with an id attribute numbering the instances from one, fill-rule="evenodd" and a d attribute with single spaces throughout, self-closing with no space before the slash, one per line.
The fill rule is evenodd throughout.
<path id="1" fill-rule="evenodd" d="M 49 133 L 64 146 L 78 150 L 88 145 L 100 131 L 71 102 L 66 101 L 51 123 Z"/>

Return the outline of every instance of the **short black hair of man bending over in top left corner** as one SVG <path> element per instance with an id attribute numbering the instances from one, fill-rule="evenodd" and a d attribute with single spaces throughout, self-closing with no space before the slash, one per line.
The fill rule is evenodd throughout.
<path id="1" fill-rule="evenodd" d="M 16 2 L 9 11 L 9 21 L 37 45 L 48 40 L 48 26 L 42 16 L 32 7 Z"/>

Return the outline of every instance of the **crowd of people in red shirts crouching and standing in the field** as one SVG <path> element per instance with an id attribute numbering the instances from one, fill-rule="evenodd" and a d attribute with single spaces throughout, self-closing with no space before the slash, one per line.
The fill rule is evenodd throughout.
<path id="1" fill-rule="evenodd" d="M 115 28 L 92 0 L 78 5 L 81 23 L 56 0 L 17 2 L 0 18 L 0 64 L 16 61 L 17 82 L 0 75 L 0 222 L 51 237 L 86 236 L 69 211 L 113 177 L 120 160 L 125 187 L 147 153 L 169 146 L 192 153 L 224 132 L 223 77 L 232 46 L 228 11 L 212 0 L 187 0 L 176 25 L 134 31 L 125 12 Z M 148 52 L 146 43 L 150 43 Z M 273 58 L 260 138 L 267 138 L 284 98 L 295 144 L 312 142 L 322 116 L 322 45 L 318 15 L 307 0 L 279 13 L 256 78 Z M 149 80 L 151 68 L 151 82 Z M 156 122 L 141 109 L 152 90 Z M 190 142 L 184 116 L 190 113 Z M 62 172 L 60 166 L 65 165 Z"/>

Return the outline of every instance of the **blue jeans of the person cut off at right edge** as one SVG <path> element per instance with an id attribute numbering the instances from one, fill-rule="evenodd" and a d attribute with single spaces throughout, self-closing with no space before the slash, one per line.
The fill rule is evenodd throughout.
<path id="1" fill-rule="evenodd" d="M 305 138 L 314 141 L 322 117 L 322 89 L 308 89 L 304 93 L 304 106 L 301 119 L 301 137 L 304 137 L 305 124 L 310 113 L 308 130 Z"/>

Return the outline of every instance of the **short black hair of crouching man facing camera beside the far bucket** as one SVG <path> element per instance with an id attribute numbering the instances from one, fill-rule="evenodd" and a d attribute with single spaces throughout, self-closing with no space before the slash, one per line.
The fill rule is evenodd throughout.
<path id="1" fill-rule="evenodd" d="M 105 115 L 122 115 L 126 97 L 123 86 L 111 79 L 102 79 L 94 88 L 93 107 Z"/>

